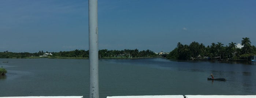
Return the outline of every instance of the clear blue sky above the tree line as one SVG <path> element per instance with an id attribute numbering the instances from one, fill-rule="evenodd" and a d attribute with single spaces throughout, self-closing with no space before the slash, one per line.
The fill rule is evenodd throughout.
<path id="1" fill-rule="evenodd" d="M 256 0 L 98 0 L 99 49 L 256 45 Z M 0 0 L 0 51 L 88 50 L 88 0 Z"/>

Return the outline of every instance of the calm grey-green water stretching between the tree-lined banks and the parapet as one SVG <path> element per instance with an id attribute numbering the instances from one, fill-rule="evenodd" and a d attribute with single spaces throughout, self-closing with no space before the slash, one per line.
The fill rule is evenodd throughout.
<path id="1" fill-rule="evenodd" d="M 89 97 L 89 60 L 0 59 L 8 73 L 0 79 L 0 97 Z M 207 77 L 226 81 L 211 81 Z M 99 60 L 100 98 L 117 95 L 256 95 L 256 64 Z"/>

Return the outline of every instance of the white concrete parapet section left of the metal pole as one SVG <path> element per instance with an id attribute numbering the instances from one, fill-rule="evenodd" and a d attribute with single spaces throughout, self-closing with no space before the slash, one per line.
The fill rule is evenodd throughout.
<path id="1" fill-rule="evenodd" d="M 27 97 L 0 97 L 0 98 L 83 98 L 83 96 L 27 96 Z"/>

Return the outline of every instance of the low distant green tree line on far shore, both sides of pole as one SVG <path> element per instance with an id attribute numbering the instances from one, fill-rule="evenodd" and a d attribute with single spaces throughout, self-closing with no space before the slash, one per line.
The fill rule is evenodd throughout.
<path id="1" fill-rule="evenodd" d="M 60 52 L 44 52 L 43 50 L 37 53 L 14 53 L 14 52 L 0 52 L 0 58 L 29 58 L 29 57 L 39 57 L 44 53 L 52 53 L 52 57 L 81 57 L 81 58 L 89 58 L 89 50 L 72 50 L 72 51 L 60 51 Z M 48 55 L 51 57 L 51 55 Z M 99 50 L 99 58 L 140 58 L 140 57 L 156 57 L 157 54 L 151 50 L 142 50 L 138 49 L 130 50 L 107 50 L 102 49 Z"/>

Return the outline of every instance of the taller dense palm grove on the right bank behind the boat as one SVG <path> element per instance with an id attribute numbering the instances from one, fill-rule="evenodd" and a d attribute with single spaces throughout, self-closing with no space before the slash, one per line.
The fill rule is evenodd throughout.
<path id="1" fill-rule="evenodd" d="M 221 42 L 212 43 L 210 46 L 195 41 L 189 45 L 178 42 L 177 47 L 167 55 L 167 59 L 185 60 L 208 57 L 207 59 L 211 60 L 249 60 L 250 56 L 256 54 L 256 47 L 251 45 L 249 38 L 242 38 L 241 45 L 242 48 L 237 48 L 234 42 L 229 43 L 228 46 L 224 46 Z"/>

